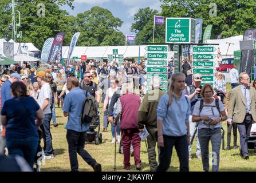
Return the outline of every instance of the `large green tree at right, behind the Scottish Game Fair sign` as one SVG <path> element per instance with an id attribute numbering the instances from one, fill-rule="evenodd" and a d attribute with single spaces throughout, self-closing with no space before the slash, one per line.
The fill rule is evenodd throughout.
<path id="1" fill-rule="evenodd" d="M 162 14 L 165 17 L 191 17 L 203 19 L 203 30 L 209 24 L 212 37 L 222 34 L 223 38 L 244 34 L 245 30 L 256 27 L 255 0 L 161 0 Z M 216 16 L 209 15 L 216 4 Z M 211 14 L 211 13 L 210 13 Z"/>

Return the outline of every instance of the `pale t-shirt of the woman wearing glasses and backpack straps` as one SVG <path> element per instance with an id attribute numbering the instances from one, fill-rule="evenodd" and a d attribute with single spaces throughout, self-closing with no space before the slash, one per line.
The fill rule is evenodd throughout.
<path id="1" fill-rule="evenodd" d="M 204 105 L 207 105 L 207 106 L 203 106 L 203 109 L 202 109 L 202 111 L 200 113 L 201 117 L 202 116 L 208 116 L 212 120 L 216 120 L 217 118 L 219 118 L 219 111 L 218 111 L 218 109 L 216 107 L 214 107 L 214 108 L 210 107 L 210 106 L 215 106 L 215 100 L 211 104 L 205 104 L 204 103 Z M 220 112 L 225 110 L 224 105 L 222 104 L 221 101 L 219 101 L 219 109 L 220 109 Z M 193 115 L 199 116 L 199 112 L 200 112 L 200 101 L 196 102 Z M 215 126 L 212 126 L 212 127 L 214 127 L 214 128 L 221 128 L 221 124 L 218 123 L 218 124 L 216 124 Z M 199 124 L 198 124 L 198 129 L 202 129 L 202 128 L 210 128 L 210 127 L 207 126 L 207 125 L 204 125 L 203 121 L 200 121 Z"/>

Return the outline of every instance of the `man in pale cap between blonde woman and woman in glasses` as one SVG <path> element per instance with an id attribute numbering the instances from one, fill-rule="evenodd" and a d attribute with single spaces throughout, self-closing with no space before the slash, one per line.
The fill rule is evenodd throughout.
<path id="1" fill-rule="evenodd" d="M 202 99 L 202 97 L 200 97 L 200 92 L 201 92 L 201 89 L 202 89 L 202 85 L 201 85 L 202 75 L 201 74 L 194 74 L 192 82 L 193 82 L 192 85 L 187 86 L 185 88 L 185 90 L 186 90 L 185 94 L 188 96 L 188 98 L 190 98 L 190 101 L 191 101 L 191 114 L 194 111 L 194 107 L 195 107 L 196 102 L 200 101 Z M 193 137 L 193 134 L 194 134 L 194 132 L 197 128 L 197 124 L 198 123 L 196 123 L 196 122 L 192 122 L 192 116 L 190 116 L 190 134 L 191 134 L 190 141 L 191 141 L 191 139 Z M 196 133 L 196 135 L 197 135 L 197 133 Z M 190 155 L 189 160 L 191 160 L 191 158 L 192 158 L 191 148 L 192 148 L 192 145 L 188 146 L 188 153 Z M 199 159 L 202 158 L 199 140 L 196 143 L 196 157 L 198 157 Z"/>

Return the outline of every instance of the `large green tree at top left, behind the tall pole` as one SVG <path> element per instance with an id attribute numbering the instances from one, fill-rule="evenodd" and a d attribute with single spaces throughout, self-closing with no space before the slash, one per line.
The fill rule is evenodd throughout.
<path id="1" fill-rule="evenodd" d="M 72 2 L 73 0 L 15 1 L 15 10 L 21 12 L 21 27 L 17 27 L 17 31 L 22 31 L 22 41 L 33 42 L 38 49 L 41 49 L 47 38 L 54 37 L 60 31 L 65 31 L 68 33 L 67 36 L 70 37 L 69 34 L 72 34 L 72 31 L 69 31 L 70 27 L 68 25 L 72 25 L 74 20 L 72 16 L 68 16 L 68 12 L 61 10 L 60 6 L 68 4 L 73 8 Z M 45 6 L 45 15 L 40 10 L 42 6 L 38 6 L 40 3 Z M 0 37 L 9 40 L 12 35 L 12 31 L 9 30 L 11 1 L 0 0 L 0 6 L 2 7 L 0 9 Z M 64 43 L 66 41 L 67 39 L 64 39 Z"/>

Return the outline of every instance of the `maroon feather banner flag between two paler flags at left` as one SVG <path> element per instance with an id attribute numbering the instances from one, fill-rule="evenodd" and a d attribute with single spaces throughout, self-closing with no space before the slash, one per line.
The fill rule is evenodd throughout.
<path id="1" fill-rule="evenodd" d="M 54 59 L 56 58 L 57 55 L 60 55 L 60 52 L 61 52 L 61 47 L 62 47 L 62 43 L 63 43 L 63 40 L 64 40 L 64 37 L 65 37 L 65 33 L 58 33 L 56 34 L 54 40 L 53 40 L 53 45 L 50 49 L 50 54 L 49 54 L 49 57 L 48 57 L 48 60 L 50 62 L 55 62 Z M 61 58 L 60 58 L 60 61 L 61 62 Z"/>

